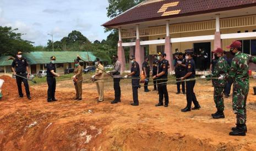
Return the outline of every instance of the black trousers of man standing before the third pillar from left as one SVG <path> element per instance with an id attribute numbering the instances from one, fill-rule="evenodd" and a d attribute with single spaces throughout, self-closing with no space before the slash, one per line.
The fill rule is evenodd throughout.
<path id="1" fill-rule="evenodd" d="M 167 82 L 167 80 L 160 80 L 159 83 Z M 165 98 L 165 104 L 168 105 L 169 103 L 169 96 L 167 91 L 167 84 L 158 84 L 158 93 L 159 93 L 159 103 L 164 104 L 164 98 Z"/>

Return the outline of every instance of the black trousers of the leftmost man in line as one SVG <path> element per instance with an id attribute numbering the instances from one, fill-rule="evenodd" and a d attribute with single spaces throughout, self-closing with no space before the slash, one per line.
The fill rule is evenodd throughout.
<path id="1" fill-rule="evenodd" d="M 20 75 L 21 77 L 27 78 L 26 73 L 22 73 L 22 74 L 17 73 L 17 75 Z M 21 83 L 23 82 L 24 86 L 25 86 L 25 90 L 26 90 L 26 96 L 29 97 L 30 96 L 30 91 L 29 91 L 28 80 L 24 79 L 24 78 L 21 78 L 21 77 L 16 76 L 16 82 L 17 82 L 17 86 L 18 86 L 19 96 L 23 96 L 22 87 L 21 87 Z"/>

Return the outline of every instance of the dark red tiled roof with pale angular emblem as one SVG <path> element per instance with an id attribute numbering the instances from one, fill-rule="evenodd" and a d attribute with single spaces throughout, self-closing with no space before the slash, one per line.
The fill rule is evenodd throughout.
<path id="1" fill-rule="evenodd" d="M 156 0 L 154 3 L 141 3 L 102 26 L 112 27 L 150 20 L 253 7 L 255 5 L 256 0 Z"/>

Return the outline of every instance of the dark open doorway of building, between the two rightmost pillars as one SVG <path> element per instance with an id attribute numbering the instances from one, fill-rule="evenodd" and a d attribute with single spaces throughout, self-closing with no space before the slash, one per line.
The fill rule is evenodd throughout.
<path id="1" fill-rule="evenodd" d="M 199 57 L 197 55 L 199 54 L 199 49 L 204 50 L 206 54 L 205 62 L 201 62 Z M 204 63 L 204 66 L 206 69 L 210 68 L 210 62 L 211 62 L 211 42 L 206 42 L 206 43 L 194 43 L 194 53 L 195 53 L 195 65 L 197 69 L 201 66 L 199 65 L 200 63 Z"/>

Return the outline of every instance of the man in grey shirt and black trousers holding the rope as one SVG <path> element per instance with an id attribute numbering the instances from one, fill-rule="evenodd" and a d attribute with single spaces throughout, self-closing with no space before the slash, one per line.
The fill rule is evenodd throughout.
<path id="1" fill-rule="evenodd" d="M 113 82 L 114 82 L 114 90 L 115 90 L 115 100 L 111 102 L 111 104 L 115 104 L 118 102 L 121 102 L 121 88 L 120 88 L 120 80 L 121 80 L 121 62 L 118 61 L 118 56 L 113 55 L 113 63 L 114 69 L 112 71 L 108 71 L 107 74 L 111 74 L 113 77 Z"/>

